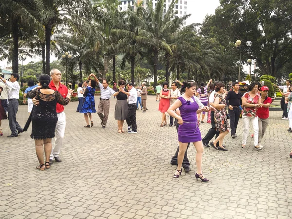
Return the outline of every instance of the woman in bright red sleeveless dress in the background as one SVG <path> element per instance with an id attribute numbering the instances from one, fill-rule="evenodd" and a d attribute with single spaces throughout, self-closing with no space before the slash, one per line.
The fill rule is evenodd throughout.
<path id="1" fill-rule="evenodd" d="M 168 108 L 170 107 L 170 90 L 168 90 L 168 82 L 163 82 L 162 84 L 163 89 L 160 91 L 160 102 L 159 102 L 159 107 L 158 110 L 162 113 L 162 117 L 161 117 L 161 125 L 160 127 L 163 127 L 167 125 L 167 121 L 166 121 L 166 114 L 165 112 L 167 112 Z M 164 121 L 164 124 L 163 124 Z"/>

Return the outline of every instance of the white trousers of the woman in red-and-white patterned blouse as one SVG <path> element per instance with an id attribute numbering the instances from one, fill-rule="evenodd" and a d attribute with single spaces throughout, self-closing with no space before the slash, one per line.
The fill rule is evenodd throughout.
<path id="1" fill-rule="evenodd" d="M 257 146 L 258 141 L 258 117 L 242 116 L 243 132 L 242 145 L 246 145 L 247 136 L 249 133 L 249 124 L 251 123 L 254 129 L 254 146 Z"/>

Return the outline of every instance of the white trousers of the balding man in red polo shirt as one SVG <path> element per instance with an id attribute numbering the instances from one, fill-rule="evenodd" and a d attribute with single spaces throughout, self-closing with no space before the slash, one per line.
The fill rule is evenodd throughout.
<path id="1" fill-rule="evenodd" d="M 53 157 L 58 157 L 61 151 L 61 147 L 63 144 L 63 139 L 65 135 L 65 127 L 66 127 L 66 115 L 65 112 L 61 112 L 60 114 L 57 114 L 58 116 L 58 122 L 56 125 L 55 130 L 55 145 L 52 147 L 50 159 L 53 159 Z"/>

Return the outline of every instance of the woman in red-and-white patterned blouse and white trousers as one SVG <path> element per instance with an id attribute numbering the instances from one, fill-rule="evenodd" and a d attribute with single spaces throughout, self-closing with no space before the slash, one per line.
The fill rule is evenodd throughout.
<path id="1" fill-rule="evenodd" d="M 241 147 L 245 148 L 246 140 L 249 132 L 249 124 L 252 123 L 254 129 L 254 148 L 261 150 L 258 146 L 258 117 L 257 108 L 261 107 L 261 97 L 258 94 L 259 86 L 257 82 L 254 82 L 248 86 L 249 92 L 246 92 L 242 96 L 242 144 Z"/>

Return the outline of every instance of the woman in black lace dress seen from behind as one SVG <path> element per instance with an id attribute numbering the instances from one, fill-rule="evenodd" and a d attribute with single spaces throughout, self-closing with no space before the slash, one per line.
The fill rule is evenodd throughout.
<path id="1" fill-rule="evenodd" d="M 42 74 L 39 77 L 41 87 L 36 87 L 27 93 L 29 98 L 36 97 L 39 105 L 32 110 L 32 134 L 35 139 L 37 158 L 39 166 L 37 169 L 45 170 L 50 168 L 49 159 L 52 150 L 52 138 L 55 136 L 55 128 L 58 121 L 57 103 L 67 105 L 70 102 L 71 94 L 68 92 L 64 98 L 58 91 L 49 88 L 50 76 Z M 46 162 L 44 164 L 43 148 L 45 148 Z"/>

